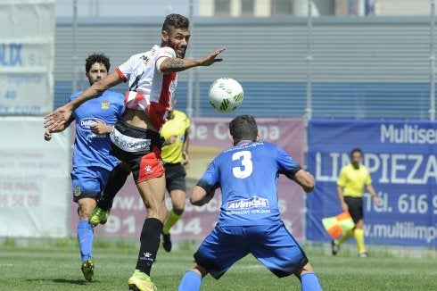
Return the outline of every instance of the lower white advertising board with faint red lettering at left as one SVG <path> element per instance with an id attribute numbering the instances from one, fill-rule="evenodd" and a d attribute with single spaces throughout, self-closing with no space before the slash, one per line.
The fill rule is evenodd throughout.
<path id="1" fill-rule="evenodd" d="M 71 131 L 44 140 L 43 117 L 0 117 L 0 237 L 69 234 Z"/>

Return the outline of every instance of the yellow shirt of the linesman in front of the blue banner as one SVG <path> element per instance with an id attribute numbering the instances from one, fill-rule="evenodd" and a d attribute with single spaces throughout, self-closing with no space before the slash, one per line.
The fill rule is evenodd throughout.
<path id="1" fill-rule="evenodd" d="M 372 178 L 366 166 L 359 165 L 355 169 L 352 164 L 342 167 L 337 185 L 343 188 L 344 196 L 361 197 L 364 187 L 372 184 Z"/>

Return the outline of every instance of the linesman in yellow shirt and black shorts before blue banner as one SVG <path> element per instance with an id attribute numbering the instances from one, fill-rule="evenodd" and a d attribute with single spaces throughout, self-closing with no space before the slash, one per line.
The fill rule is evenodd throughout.
<path id="1" fill-rule="evenodd" d="M 337 196 L 342 206 L 342 210 L 349 211 L 352 220 L 355 222 L 355 229 L 350 229 L 339 240 L 331 242 L 333 255 L 337 254 L 340 245 L 350 237 L 355 237 L 357 242 L 359 257 L 366 258 L 366 246 L 364 245 L 364 220 L 363 220 L 363 193 L 364 187 L 373 197 L 374 204 L 379 203 L 378 195 L 372 186 L 372 178 L 367 167 L 362 165 L 361 159 L 363 152 L 359 148 L 354 148 L 350 152 L 351 163 L 342 167 L 337 180 Z"/>

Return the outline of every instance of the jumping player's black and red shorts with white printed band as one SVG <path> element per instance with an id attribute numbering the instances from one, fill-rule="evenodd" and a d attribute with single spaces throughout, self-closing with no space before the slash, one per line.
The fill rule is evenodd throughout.
<path id="1" fill-rule="evenodd" d="M 111 131 L 111 154 L 128 163 L 136 183 L 161 177 L 163 138 L 159 132 L 117 121 Z"/>

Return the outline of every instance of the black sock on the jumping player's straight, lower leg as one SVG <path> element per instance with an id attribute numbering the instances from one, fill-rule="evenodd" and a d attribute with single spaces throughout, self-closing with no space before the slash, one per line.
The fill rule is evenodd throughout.
<path id="1" fill-rule="evenodd" d="M 160 248 L 161 230 L 163 224 L 161 220 L 150 218 L 144 220 L 143 229 L 141 230 L 141 246 L 136 262 L 136 269 L 141 270 L 150 276 L 152 264 L 155 261 L 156 253 Z"/>

